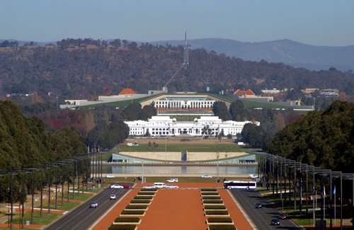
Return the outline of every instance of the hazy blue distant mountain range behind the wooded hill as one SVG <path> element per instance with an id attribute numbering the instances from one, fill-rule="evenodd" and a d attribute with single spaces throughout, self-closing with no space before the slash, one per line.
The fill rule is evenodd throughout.
<path id="1" fill-rule="evenodd" d="M 4 40 L 0 40 L 3 42 Z M 14 40 L 9 40 L 14 41 Z M 19 45 L 29 43 L 17 40 Z M 112 41 L 112 40 L 107 40 Z M 38 45 L 54 44 L 57 42 L 35 42 Z M 141 44 L 141 42 L 137 42 Z M 184 40 L 164 40 L 149 42 L 153 45 L 183 45 Z M 292 40 L 275 40 L 270 42 L 239 42 L 222 38 L 202 38 L 188 40 L 190 49 L 203 48 L 238 57 L 246 61 L 282 62 L 292 67 L 303 67 L 311 70 L 328 70 L 334 67 L 341 71 L 354 70 L 354 45 L 344 47 L 315 46 Z"/>

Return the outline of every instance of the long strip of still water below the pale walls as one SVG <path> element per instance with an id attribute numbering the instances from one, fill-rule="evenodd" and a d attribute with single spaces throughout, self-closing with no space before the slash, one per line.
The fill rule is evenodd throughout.
<path id="1" fill-rule="evenodd" d="M 252 166 L 107 166 L 103 165 L 102 173 L 113 174 L 256 174 L 258 167 Z"/>

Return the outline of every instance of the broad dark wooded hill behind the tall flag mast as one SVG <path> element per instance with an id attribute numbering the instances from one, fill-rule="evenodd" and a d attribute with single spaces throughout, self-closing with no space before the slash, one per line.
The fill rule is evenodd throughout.
<path id="1" fill-rule="evenodd" d="M 46 98 L 95 98 L 122 88 L 139 93 L 161 89 L 183 62 L 183 47 L 114 40 L 111 45 L 63 40 L 57 46 L 0 48 L 0 96 L 33 93 Z M 354 74 L 295 69 L 250 62 L 224 54 L 191 50 L 189 66 L 169 83 L 169 91 L 219 92 L 237 88 L 338 88 L 353 95 Z"/>

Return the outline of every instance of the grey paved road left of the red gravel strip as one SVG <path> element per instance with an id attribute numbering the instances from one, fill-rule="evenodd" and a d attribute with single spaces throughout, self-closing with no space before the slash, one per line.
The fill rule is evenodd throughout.
<path id="1" fill-rule="evenodd" d="M 57 222 L 50 224 L 45 229 L 90 229 L 90 226 L 115 205 L 128 190 L 105 188 L 102 192 L 65 214 Z M 111 194 L 115 194 L 117 200 L 110 200 Z M 91 202 L 98 202 L 98 207 L 90 208 Z"/>

